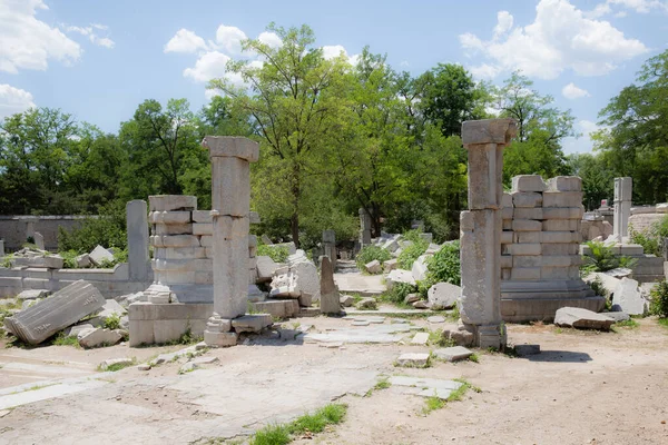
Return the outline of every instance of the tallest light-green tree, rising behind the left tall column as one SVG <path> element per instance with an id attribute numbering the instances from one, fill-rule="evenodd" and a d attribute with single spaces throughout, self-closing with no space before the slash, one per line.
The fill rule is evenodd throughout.
<path id="1" fill-rule="evenodd" d="M 345 105 L 342 89 L 348 66 L 343 57 L 325 60 L 307 26 L 284 29 L 272 23 L 267 29 L 281 38 L 279 47 L 259 39 L 243 42 L 245 51 L 262 57 L 262 67 L 247 60 L 227 65 L 227 71 L 239 75 L 248 88 L 237 87 L 228 78 L 212 80 L 209 88 L 225 92 L 234 109 L 250 116 L 262 156 L 276 158 L 277 162 L 265 165 L 283 174 L 272 187 L 281 188 L 288 198 L 282 207 L 287 215 L 282 217 L 289 218 L 292 239 L 298 245 L 299 216 L 308 211 L 304 196 L 320 172 L 317 159 L 328 148 L 330 134 L 338 130 L 335 122 Z M 257 177 L 258 167 L 254 172 Z"/>

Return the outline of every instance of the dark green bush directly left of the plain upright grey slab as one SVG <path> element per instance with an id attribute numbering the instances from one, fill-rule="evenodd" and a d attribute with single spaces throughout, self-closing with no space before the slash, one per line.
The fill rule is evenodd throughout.
<path id="1" fill-rule="evenodd" d="M 100 208 L 97 218 L 87 218 L 79 228 L 71 231 L 58 228 L 58 247 L 87 254 L 97 245 L 127 249 L 125 202 L 112 201 Z"/>

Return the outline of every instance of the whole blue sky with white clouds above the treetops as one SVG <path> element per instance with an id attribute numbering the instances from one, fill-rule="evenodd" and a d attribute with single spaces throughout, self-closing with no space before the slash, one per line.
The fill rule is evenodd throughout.
<path id="1" fill-rule="evenodd" d="M 0 119 L 60 108 L 116 132 L 146 99 L 210 99 L 239 41 L 308 24 L 327 57 L 369 46 L 414 76 L 461 63 L 501 85 L 514 70 L 570 109 L 567 154 L 591 151 L 599 111 L 668 44 L 668 0 L 0 0 Z M 261 63 L 259 61 L 255 61 Z M 234 80 L 234 79 L 233 79 Z"/>

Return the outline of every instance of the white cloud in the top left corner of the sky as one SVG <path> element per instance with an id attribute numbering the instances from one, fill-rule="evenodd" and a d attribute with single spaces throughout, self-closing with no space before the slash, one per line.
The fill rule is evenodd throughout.
<path id="1" fill-rule="evenodd" d="M 0 71 L 46 70 L 49 59 L 67 65 L 81 57 L 79 43 L 35 17 L 40 9 L 48 9 L 41 0 L 0 1 Z"/>

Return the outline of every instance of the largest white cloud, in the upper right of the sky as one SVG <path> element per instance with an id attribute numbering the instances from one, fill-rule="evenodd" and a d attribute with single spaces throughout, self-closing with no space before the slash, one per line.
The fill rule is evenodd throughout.
<path id="1" fill-rule="evenodd" d="M 472 71 L 519 69 L 530 77 L 554 79 L 570 69 L 580 76 L 600 76 L 648 51 L 641 41 L 626 38 L 609 22 L 586 18 L 568 0 L 541 0 L 536 11 L 532 23 L 508 30 L 503 39 L 483 41 L 471 33 L 461 34 L 462 48 L 488 59 L 489 67 Z M 510 20 L 499 17 L 495 29 L 505 29 Z"/>

